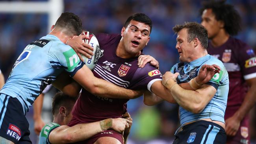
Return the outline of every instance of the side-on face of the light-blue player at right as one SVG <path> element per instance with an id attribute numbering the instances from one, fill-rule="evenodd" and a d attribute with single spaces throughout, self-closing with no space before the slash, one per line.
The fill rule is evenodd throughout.
<path id="1" fill-rule="evenodd" d="M 176 49 L 180 54 L 180 61 L 189 63 L 194 54 L 193 41 L 187 42 L 187 29 L 184 28 L 177 33 Z"/>

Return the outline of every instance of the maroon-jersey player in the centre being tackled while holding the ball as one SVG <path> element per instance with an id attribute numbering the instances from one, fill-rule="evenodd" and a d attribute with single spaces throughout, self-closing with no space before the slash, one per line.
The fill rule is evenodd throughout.
<path id="1" fill-rule="evenodd" d="M 148 44 L 150 40 L 150 32 L 152 23 L 143 13 L 136 13 L 130 16 L 120 34 L 98 34 L 100 50 L 96 57 L 98 57 L 97 65 L 93 69 L 93 74 L 97 78 L 102 78 L 110 81 L 116 85 L 127 89 L 147 90 L 154 92 L 160 96 L 161 99 L 168 102 L 175 102 L 169 90 L 167 90 L 161 83 L 162 75 L 160 71 L 147 63 L 143 68 L 137 65 L 138 57 L 142 55 L 141 50 Z M 72 40 L 69 41 L 72 46 Z M 74 46 L 72 46 L 74 47 Z M 139 65 L 144 62 L 140 60 Z M 205 65 L 201 70 L 201 77 L 197 77 L 197 82 L 203 84 L 208 82 L 212 76 L 218 72 L 214 71 L 218 66 Z M 86 76 L 85 76 L 86 77 Z M 183 83 L 184 87 L 190 88 L 189 83 Z M 70 86 L 71 88 L 72 86 Z M 63 88 L 63 87 L 62 87 Z M 79 87 L 78 87 L 79 88 Z M 60 88 L 61 89 L 61 88 Z M 63 90 L 63 89 L 61 89 Z M 78 89 L 79 91 L 80 89 Z M 65 90 L 64 90 L 65 91 Z M 76 87 L 67 91 L 69 95 L 77 94 L 74 92 Z M 75 94 L 72 94 L 74 92 Z M 145 95 L 145 100 L 148 100 Z M 149 96 L 150 97 L 150 96 Z M 72 110 L 73 118 L 69 126 L 74 126 L 80 123 L 95 122 L 106 118 L 119 118 L 126 113 L 126 102 L 135 97 L 116 97 L 116 96 L 96 96 L 86 89 L 82 90 L 81 96 L 78 98 Z M 114 130 L 104 131 L 98 133 L 89 140 L 83 143 L 87 144 L 123 144 L 124 139 L 122 133 L 117 133 Z"/>

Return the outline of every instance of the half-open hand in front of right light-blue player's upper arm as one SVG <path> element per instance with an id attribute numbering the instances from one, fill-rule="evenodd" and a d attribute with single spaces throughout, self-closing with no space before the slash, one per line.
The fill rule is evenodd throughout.
<path id="1" fill-rule="evenodd" d="M 220 70 L 218 65 L 203 65 L 196 77 L 197 83 L 200 85 L 207 83 L 216 73 L 220 73 Z"/>

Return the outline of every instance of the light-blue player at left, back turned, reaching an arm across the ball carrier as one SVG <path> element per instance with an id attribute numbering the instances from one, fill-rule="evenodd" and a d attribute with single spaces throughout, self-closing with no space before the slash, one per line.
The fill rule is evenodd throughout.
<path id="1" fill-rule="evenodd" d="M 49 35 L 33 41 L 20 54 L 0 91 L 0 142 L 31 144 L 25 114 L 46 85 L 52 83 L 63 71 L 67 71 L 83 88 L 98 96 L 139 95 L 139 92 L 123 89 L 93 76 L 74 50 L 65 44 L 68 39 L 80 33 L 81 19 L 73 13 L 62 13 Z M 82 43 L 85 36 L 79 38 Z M 63 84 L 65 79 L 61 79 L 61 82 L 54 84 L 67 94 L 77 96 L 80 86 L 71 83 L 66 87 L 66 83 Z"/>

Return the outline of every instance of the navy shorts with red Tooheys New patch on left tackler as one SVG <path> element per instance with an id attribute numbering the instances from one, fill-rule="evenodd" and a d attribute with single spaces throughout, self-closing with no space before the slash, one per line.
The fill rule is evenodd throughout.
<path id="1" fill-rule="evenodd" d="M 28 120 L 17 98 L 0 94 L 0 136 L 15 144 L 32 144 Z"/>

